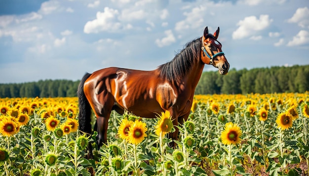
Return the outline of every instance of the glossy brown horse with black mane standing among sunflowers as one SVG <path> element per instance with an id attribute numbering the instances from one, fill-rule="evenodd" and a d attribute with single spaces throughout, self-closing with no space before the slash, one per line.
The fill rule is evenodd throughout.
<path id="1" fill-rule="evenodd" d="M 188 119 L 195 87 L 204 64 L 211 64 L 226 75 L 229 62 L 214 34 L 204 29 L 202 37 L 189 42 L 171 61 L 152 71 L 125 68 L 104 68 L 86 73 L 78 86 L 79 129 L 91 134 L 91 109 L 97 117 L 98 146 L 107 143 L 108 120 L 112 110 L 123 114 L 126 110 L 139 117 L 155 118 L 169 111 L 173 124 Z M 178 138 L 178 128 L 170 134 Z"/>

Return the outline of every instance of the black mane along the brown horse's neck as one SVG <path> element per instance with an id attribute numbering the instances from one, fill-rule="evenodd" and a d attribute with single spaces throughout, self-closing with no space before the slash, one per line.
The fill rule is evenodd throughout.
<path id="1" fill-rule="evenodd" d="M 160 77 L 172 82 L 183 78 L 190 71 L 192 65 L 200 58 L 202 43 L 200 38 L 197 38 L 185 46 L 174 59 L 158 66 Z"/>

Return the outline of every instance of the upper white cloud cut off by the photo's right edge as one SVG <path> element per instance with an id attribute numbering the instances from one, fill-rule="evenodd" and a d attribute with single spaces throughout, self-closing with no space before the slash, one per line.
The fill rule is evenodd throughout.
<path id="1" fill-rule="evenodd" d="M 293 17 L 288 19 L 289 23 L 298 23 L 302 28 L 309 28 L 309 8 L 298 8 Z"/>

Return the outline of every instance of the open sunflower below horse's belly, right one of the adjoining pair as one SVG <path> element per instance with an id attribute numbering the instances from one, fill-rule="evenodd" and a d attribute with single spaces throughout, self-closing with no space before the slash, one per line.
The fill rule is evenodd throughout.
<path id="1" fill-rule="evenodd" d="M 146 123 L 135 120 L 129 128 L 128 142 L 135 145 L 140 144 L 147 137 L 146 131 Z"/>

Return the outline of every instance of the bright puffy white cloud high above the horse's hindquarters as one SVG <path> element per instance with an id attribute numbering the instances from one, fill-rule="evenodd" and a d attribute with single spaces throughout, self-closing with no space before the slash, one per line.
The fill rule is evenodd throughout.
<path id="1" fill-rule="evenodd" d="M 116 21 L 118 10 L 109 7 L 104 8 L 104 12 L 97 12 L 96 19 L 88 21 L 84 26 L 85 33 L 98 33 L 100 31 L 115 31 L 120 29 L 121 24 Z"/>

